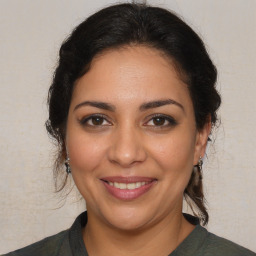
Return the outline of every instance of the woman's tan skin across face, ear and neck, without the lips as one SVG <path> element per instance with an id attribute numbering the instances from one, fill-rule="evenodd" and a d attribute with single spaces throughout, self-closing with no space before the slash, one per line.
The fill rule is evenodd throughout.
<path id="1" fill-rule="evenodd" d="M 177 104 L 141 109 L 170 99 Z M 113 111 L 85 101 L 111 104 Z M 100 118 L 90 119 L 95 114 Z M 87 205 L 83 238 L 90 256 L 166 256 L 192 232 L 182 215 L 183 192 L 209 133 L 210 123 L 196 129 L 187 85 L 158 50 L 127 46 L 94 58 L 75 85 L 66 133 L 72 176 Z M 100 180 L 106 176 L 156 182 L 142 196 L 120 200 Z"/>

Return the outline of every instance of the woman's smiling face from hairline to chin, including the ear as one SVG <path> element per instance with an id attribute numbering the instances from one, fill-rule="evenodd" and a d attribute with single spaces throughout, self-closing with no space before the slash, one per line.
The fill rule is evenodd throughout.
<path id="1" fill-rule="evenodd" d="M 187 85 L 157 50 L 105 52 L 74 88 L 66 143 L 88 214 L 123 230 L 181 215 L 204 150 Z"/>

